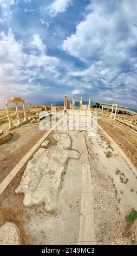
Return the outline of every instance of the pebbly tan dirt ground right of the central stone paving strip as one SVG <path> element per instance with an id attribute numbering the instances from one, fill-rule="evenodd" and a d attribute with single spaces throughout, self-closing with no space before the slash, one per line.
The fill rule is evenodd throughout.
<path id="1" fill-rule="evenodd" d="M 108 138 L 98 131 L 86 136 L 94 198 L 96 245 L 136 244 L 136 223 L 127 230 L 126 216 L 136 208 L 137 170 L 128 166 Z"/>

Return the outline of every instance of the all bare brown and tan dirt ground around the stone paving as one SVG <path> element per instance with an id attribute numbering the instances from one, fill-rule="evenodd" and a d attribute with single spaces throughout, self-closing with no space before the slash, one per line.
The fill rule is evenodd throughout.
<path id="1" fill-rule="evenodd" d="M 107 118 L 99 118 L 99 124 L 136 164 L 136 133 Z M 45 132 L 40 133 L 36 124 L 31 126 L 18 128 L 16 133 L 19 135 L 12 137 L 8 145 L 2 145 L 0 163 L 4 166 L 4 159 L 6 163 L 1 172 L 2 179 Z M 47 137 L 50 142 L 47 148 L 56 145 L 53 134 L 57 132 L 53 131 Z M 5 222 L 16 224 L 22 245 L 76 245 L 80 228 L 81 163 L 86 155 L 92 176 L 95 244 L 137 244 L 137 221 L 130 229 L 127 229 L 126 222 L 126 216 L 131 209 L 137 211 L 137 170 L 129 166 L 126 158 L 102 131 L 99 130 L 95 137 L 89 137 L 85 131 L 63 132 L 71 137 L 71 148 L 79 151 L 80 159 L 69 159 L 66 164 L 58 193 L 57 209 L 47 212 L 43 203 L 34 206 L 23 204 L 23 193 L 16 194 L 15 189 L 21 181 L 24 166 L 0 197 L 0 225 Z M 85 148 L 83 139 L 86 141 Z"/>

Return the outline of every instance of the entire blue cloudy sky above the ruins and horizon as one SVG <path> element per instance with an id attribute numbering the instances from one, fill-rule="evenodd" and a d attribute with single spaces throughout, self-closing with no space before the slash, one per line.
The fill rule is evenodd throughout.
<path id="1" fill-rule="evenodd" d="M 64 95 L 137 109 L 136 0 L 0 0 L 0 107 Z"/>

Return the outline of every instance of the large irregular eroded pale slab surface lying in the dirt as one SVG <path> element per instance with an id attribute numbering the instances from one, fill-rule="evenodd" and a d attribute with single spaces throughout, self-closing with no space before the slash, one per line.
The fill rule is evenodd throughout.
<path id="1" fill-rule="evenodd" d="M 56 209 L 61 175 L 70 157 L 79 159 L 80 153 L 71 148 L 71 138 L 66 133 L 53 136 L 58 142 L 49 149 L 39 149 L 28 162 L 16 192 L 24 193 L 24 205 L 45 203 L 47 211 Z"/>

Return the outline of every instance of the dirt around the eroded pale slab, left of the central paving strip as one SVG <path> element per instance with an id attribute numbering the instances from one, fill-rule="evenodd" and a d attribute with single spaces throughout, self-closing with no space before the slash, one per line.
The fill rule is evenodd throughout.
<path id="1" fill-rule="evenodd" d="M 49 144 L 57 142 L 47 137 Z M 73 133 L 73 132 L 71 132 Z M 72 148 L 79 147 L 81 135 L 71 134 Z M 44 204 L 23 205 L 23 193 L 15 189 L 21 181 L 25 166 L 19 171 L 0 197 L 0 225 L 13 222 L 19 228 L 22 245 L 75 245 L 78 240 L 81 208 L 81 159 L 69 159 L 66 172 L 62 175 L 58 206 L 55 212 L 47 212 Z"/>

